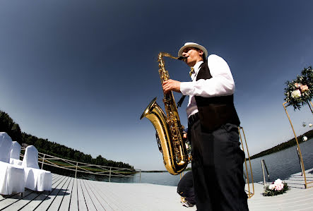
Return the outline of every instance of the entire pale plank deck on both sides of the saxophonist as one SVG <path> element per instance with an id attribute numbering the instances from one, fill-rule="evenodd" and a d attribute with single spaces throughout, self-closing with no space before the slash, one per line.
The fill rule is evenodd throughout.
<path id="1" fill-rule="evenodd" d="M 307 181 L 313 181 L 313 169 L 307 171 Z M 249 210 L 313 210 L 313 188 L 305 189 L 300 173 L 285 182 L 290 191 L 273 197 L 261 195 L 263 184 L 254 183 L 255 194 L 248 200 Z M 53 174 L 52 191 L 38 193 L 26 189 L 23 196 L 0 196 L 0 210 L 196 210 L 196 207 L 183 207 L 174 186 L 108 183 Z"/>

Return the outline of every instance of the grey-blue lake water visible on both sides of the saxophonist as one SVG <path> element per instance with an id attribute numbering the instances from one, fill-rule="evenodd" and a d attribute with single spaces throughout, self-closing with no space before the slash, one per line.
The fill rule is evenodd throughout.
<path id="1" fill-rule="evenodd" d="M 305 169 L 312 169 L 313 139 L 307 140 L 305 143 L 301 143 L 300 150 L 302 152 L 303 162 L 305 163 Z M 270 181 L 274 181 L 278 178 L 282 180 L 287 179 L 291 174 L 295 174 L 301 171 L 300 162 L 297 157 L 296 146 L 294 146 L 282 150 L 280 152 L 273 153 L 271 155 L 266 155 L 264 157 L 252 159 L 251 164 L 254 182 L 263 181 L 261 159 L 264 159 L 266 162 L 266 167 L 268 168 L 268 173 L 270 175 Z M 249 162 L 247 162 L 247 165 L 249 172 Z M 264 171 L 266 174 L 265 169 Z M 153 183 L 165 186 L 177 186 L 179 179 L 180 179 L 179 175 L 174 176 L 168 172 L 141 173 L 141 183 Z M 249 176 L 249 179 L 251 182 L 251 176 Z M 111 178 L 112 182 L 139 183 L 139 180 L 140 180 L 139 174 L 136 174 L 134 177 L 131 178 L 119 178 L 119 177 Z"/>

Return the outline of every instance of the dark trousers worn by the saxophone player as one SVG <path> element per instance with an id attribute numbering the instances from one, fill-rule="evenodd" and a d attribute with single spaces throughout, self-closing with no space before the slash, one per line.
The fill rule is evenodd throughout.
<path id="1" fill-rule="evenodd" d="M 237 126 L 226 123 L 205 133 L 196 121 L 188 135 L 197 210 L 249 210 Z"/>

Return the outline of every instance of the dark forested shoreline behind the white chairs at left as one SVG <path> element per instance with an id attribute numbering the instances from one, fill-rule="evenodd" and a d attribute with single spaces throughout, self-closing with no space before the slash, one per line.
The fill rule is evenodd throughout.
<path id="1" fill-rule="evenodd" d="M 0 110 L 0 132 L 6 132 L 12 140 L 16 140 L 20 145 L 23 143 L 27 145 L 34 145 L 39 152 L 61 157 L 64 159 L 71 159 L 78 162 L 84 162 L 88 164 L 96 164 L 108 167 L 119 167 L 119 168 L 130 168 L 134 169 L 133 166 L 123 163 L 115 162 L 112 160 L 105 159 L 101 155 L 93 158 L 91 155 L 85 155 L 85 153 L 78 150 L 73 150 L 70 147 L 60 145 L 58 143 L 51 142 L 44 138 L 37 138 L 35 135 L 23 133 L 20 131 L 20 126 L 15 123 L 6 112 Z"/>

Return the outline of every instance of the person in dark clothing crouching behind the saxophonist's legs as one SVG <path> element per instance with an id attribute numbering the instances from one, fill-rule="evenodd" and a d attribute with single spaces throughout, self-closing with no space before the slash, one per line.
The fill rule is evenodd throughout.
<path id="1" fill-rule="evenodd" d="M 192 171 L 188 171 L 187 174 L 184 174 L 177 186 L 177 193 L 182 196 L 182 204 L 186 207 L 193 207 L 196 205 L 193 180 Z"/>

